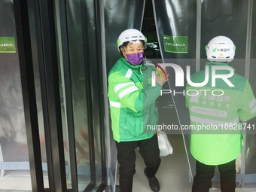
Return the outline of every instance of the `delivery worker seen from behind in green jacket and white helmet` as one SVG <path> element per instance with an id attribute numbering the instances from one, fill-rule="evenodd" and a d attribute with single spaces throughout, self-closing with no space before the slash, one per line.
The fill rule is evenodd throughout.
<path id="1" fill-rule="evenodd" d="M 190 77 L 194 83 L 208 82 L 203 87 L 186 87 L 190 152 L 197 160 L 193 192 L 209 191 L 215 166 L 221 175 L 221 191 L 235 192 L 236 157 L 241 153 L 241 132 L 246 128 L 242 122 L 256 116 L 256 100 L 248 80 L 229 65 L 235 48 L 230 38 L 212 38 L 206 45 L 206 69 Z"/>

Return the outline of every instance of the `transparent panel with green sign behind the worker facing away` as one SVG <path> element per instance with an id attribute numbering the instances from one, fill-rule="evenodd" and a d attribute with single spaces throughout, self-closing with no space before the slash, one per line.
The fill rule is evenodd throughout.
<path id="1" fill-rule="evenodd" d="M 230 65 L 236 73 L 248 78 L 255 93 L 254 72 L 254 32 L 255 4 L 254 1 L 153 1 L 157 35 L 160 42 L 161 55 L 164 63 L 176 63 L 185 72 L 185 66 L 190 66 L 191 73 L 204 69 L 206 62 L 205 46 L 215 36 L 225 35 L 236 45 L 236 56 Z M 169 73 L 169 89 L 182 93 L 184 87 L 175 86 L 175 74 Z M 188 124 L 188 110 L 185 107 L 184 96 L 173 94 L 169 100 L 174 100 L 176 113 L 180 124 Z M 248 123 L 254 124 L 255 118 Z M 236 181 L 239 186 L 254 181 L 255 166 L 253 162 L 255 137 L 247 130 L 244 134 L 243 151 L 236 159 Z M 183 132 L 184 143 L 187 146 L 187 157 L 191 173 L 195 174 L 195 160 L 190 155 L 190 134 Z M 219 180 L 215 174 L 213 180 Z"/>

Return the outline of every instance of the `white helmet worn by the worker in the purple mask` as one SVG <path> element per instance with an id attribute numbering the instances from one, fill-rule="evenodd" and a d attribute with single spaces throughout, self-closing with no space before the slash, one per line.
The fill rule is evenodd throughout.
<path id="1" fill-rule="evenodd" d="M 147 42 L 147 38 L 137 29 L 126 29 L 119 35 L 117 39 L 117 49 L 119 50 L 119 47 L 124 42 L 136 42 L 136 41 L 145 41 Z M 143 44 L 144 48 L 146 47 L 146 44 Z"/>

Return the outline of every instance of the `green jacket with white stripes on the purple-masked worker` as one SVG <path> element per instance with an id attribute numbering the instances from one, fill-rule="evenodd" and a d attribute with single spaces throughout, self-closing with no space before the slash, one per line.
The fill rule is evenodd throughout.
<path id="1" fill-rule="evenodd" d="M 158 122 L 155 100 L 161 86 L 151 86 L 151 66 L 133 66 L 121 57 L 108 74 L 111 127 L 117 142 L 150 139 Z"/>

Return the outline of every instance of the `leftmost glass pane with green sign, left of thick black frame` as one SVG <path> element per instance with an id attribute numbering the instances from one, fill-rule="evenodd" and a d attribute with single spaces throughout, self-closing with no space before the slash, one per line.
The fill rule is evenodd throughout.
<path id="1" fill-rule="evenodd" d="M 14 2 L 0 12 L 0 190 L 31 190 Z"/>

